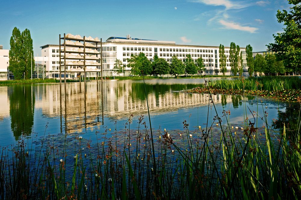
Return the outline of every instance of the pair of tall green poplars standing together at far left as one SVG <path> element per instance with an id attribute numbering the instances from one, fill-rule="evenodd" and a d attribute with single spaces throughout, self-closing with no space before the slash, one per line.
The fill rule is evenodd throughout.
<path id="1" fill-rule="evenodd" d="M 33 40 L 30 31 L 25 29 L 22 33 L 14 27 L 10 39 L 9 70 L 14 73 L 14 78 L 20 80 L 25 73 L 25 78 L 31 77 L 31 65 L 35 66 L 33 58 Z"/>

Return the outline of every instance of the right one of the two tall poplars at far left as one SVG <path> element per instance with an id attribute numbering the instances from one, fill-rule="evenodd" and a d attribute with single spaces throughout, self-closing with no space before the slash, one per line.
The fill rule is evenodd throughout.
<path id="1" fill-rule="evenodd" d="M 21 33 L 22 39 L 22 56 L 25 62 L 25 78 L 31 78 L 31 67 L 35 67 L 35 60 L 33 57 L 33 39 L 31 39 L 30 31 L 25 29 Z"/>

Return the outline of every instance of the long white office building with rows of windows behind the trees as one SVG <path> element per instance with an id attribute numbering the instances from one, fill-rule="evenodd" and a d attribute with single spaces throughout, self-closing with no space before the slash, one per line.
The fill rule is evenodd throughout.
<path id="1" fill-rule="evenodd" d="M 100 44 L 98 44 L 98 51 L 100 51 Z M 44 45 L 42 48 L 43 59 L 41 64 L 46 66 L 46 78 L 58 78 L 60 70 L 60 51 L 59 45 Z M 61 47 L 63 50 L 63 47 Z M 240 48 L 243 56 L 243 69 L 244 75 L 247 76 L 247 61 L 245 48 Z M 126 38 L 110 37 L 106 42 L 102 43 L 102 56 L 103 56 L 103 75 L 116 76 L 114 71 L 114 64 L 116 59 L 123 62 L 125 66 L 124 76 L 130 75 L 131 68 L 128 67 L 127 59 L 131 55 L 138 55 L 143 52 L 145 56 L 152 61 L 155 55 L 159 58 L 164 58 L 167 62 L 171 62 L 172 56 L 176 56 L 181 61 L 185 61 L 188 54 L 196 62 L 197 58 L 203 58 L 206 71 L 203 74 L 209 75 L 222 75 L 219 67 L 219 46 L 197 46 L 197 45 L 177 45 L 172 41 L 158 41 L 148 39 L 131 38 L 129 35 Z M 225 47 L 225 54 L 227 57 L 227 73 L 231 75 L 231 66 L 229 62 L 230 48 Z M 64 55 L 61 54 L 61 57 Z M 98 55 L 100 56 L 100 55 Z M 36 59 L 35 59 L 36 60 Z M 64 63 L 64 60 L 61 60 Z M 101 67 L 98 67 L 101 69 Z M 68 70 L 67 68 L 66 70 Z M 100 75 L 100 73 L 99 73 Z M 76 73 L 68 73 L 68 78 L 76 77 Z M 89 74 L 86 75 L 87 77 Z M 94 75 L 95 76 L 95 75 Z"/>

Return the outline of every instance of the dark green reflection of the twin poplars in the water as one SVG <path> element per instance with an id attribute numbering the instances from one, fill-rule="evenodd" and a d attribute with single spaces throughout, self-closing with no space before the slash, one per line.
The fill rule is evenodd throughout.
<path id="1" fill-rule="evenodd" d="M 32 132 L 35 92 L 32 86 L 11 86 L 8 95 L 11 130 L 17 140 L 22 134 Z"/>

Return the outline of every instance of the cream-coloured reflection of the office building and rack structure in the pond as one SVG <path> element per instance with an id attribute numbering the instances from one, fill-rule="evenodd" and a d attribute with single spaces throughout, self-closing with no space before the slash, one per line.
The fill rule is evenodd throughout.
<path id="1" fill-rule="evenodd" d="M 152 115 L 178 108 L 208 105 L 209 96 L 173 92 L 186 89 L 184 84 L 146 84 L 148 104 Z M 147 113 L 143 83 L 133 81 L 99 81 L 84 83 L 49 84 L 45 99 L 36 103 L 48 117 L 60 116 L 61 133 L 81 133 L 105 125 L 109 119 L 126 119 L 130 114 Z M 213 95 L 221 103 L 220 95 Z M 231 101 L 231 97 L 223 97 Z M 47 102 L 47 103 L 46 103 Z"/>

